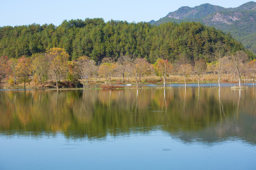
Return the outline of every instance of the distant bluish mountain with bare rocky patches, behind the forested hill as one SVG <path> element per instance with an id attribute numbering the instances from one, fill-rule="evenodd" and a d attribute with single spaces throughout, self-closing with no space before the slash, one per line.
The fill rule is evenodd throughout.
<path id="1" fill-rule="evenodd" d="M 150 21 L 153 25 L 165 22 L 200 22 L 230 33 L 245 48 L 256 53 L 256 2 L 250 1 L 237 8 L 223 8 L 209 3 L 193 8 L 181 7 L 167 16 Z"/>

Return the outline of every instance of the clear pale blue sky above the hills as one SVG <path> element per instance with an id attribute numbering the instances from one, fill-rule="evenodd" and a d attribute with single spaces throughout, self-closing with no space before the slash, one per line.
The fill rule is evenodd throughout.
<path id="1" fill-rule="evenodd" d="M 53 23 L 64 19 L 101 17 L 106 21 L 128 22 L 158 20 L 182 6 L 203 3 L 225 8 L 238 7 L 251 0 L 1 0 L 0 26 Z"/>

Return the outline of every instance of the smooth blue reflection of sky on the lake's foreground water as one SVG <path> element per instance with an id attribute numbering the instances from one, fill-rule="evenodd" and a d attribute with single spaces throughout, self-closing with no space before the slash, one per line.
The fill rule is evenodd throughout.
<path id="1" fill-rule="evenodd" d="M 58 134 L 40 139 L 1 137 L 1 170 L 254 170 L 256 147 L 232 139 L 213 145 L 182 143 L 162 131 L 71 140 Z M 21 156 L 22 155 L 22 156 Z M 218 162 L 218 163 L 217 163 Z"/>

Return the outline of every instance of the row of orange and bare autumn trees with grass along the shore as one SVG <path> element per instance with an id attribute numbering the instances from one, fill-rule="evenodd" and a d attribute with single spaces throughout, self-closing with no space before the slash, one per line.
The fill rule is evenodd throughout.
<path id="1" fill-rule="evenodd" d="M 53 58 L 53 56 L 55 58 Z M 63 57 L 62 57 L 63 56 Z M 77 61 L 68 61 L 64 49 L 53 48 L 44 54 L 35 54 L 31 58 L 0 58 L 0 82 L 4 88 L 86 88 L 86 85 L 122 85 L 136 83 L 178 83 L 217 82 L 238 83 L 241 79 L 253 82 L 256 73 L 256 60 L 248 60 L 244 51 L 232 56 L 222 57 L 207 63 L 200 59 L 191 61 L 180 58 L 176 62 L 159 58 L 154 64 L 146 59 L 133 59 L 122 56 L 118 61 L 109 58 L 96 65 L 86 56 Z M 23 84 L 23 85 L 22 85 Z M 103 88 L 103 89 L 104 89 Z M 117 87 L 115 87 L 117 88 Z M 119 87 L 118 87 L 119 88 Z"/>

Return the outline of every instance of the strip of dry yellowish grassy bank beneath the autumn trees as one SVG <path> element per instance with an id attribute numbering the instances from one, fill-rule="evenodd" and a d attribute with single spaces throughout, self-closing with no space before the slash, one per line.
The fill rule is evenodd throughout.
<path id="1" fill-rule="evenodd" d="M 244 82 L 244 77 L 242 78 L 242 83 Z M 144 76 L 140 78 L 140 85 L 143 84 L 163 84 L 163 78 L 159 77 L 159 76 Z M 192 75 L 186 78 L 186 82 L 187 83 L 198 83 L 198 77 L 196 75 Z M 234 80 L 234 78 L 231 76 L 222 76 L 221 77 L 221 83 L 238 83 L 238 81 Z M 247 79 L 246 81 L 251 82 Z M 178 84 L 184 83 L 184 79 L 183 76 L 168 76 L 165 79 L 165 83 L 166 84 Z M 218 83 L 218 76 L 214 75 L 214 74 L 207 74 L 207 75 L 203 75 L 203 77 L 200 77 L 200 83 Z M 131 85 L 136 85 L 136 80 L 134 77 L 125 77 L 124 81 L 121 79 L 119 79 L 119 77 L 111 77 L 111 86 L 110 86 L 110 82 L 109 80 L 106 81 L 105 78 L 99 78 L 97 77 L 97 79 L 95 80 L 94 77 L 90 77 L 88 79 L 88 83 L 85 84 L 87 85 L 97 85 L 97 88 L 99 89 L 123 89 L 123 88 L 131 88 L 132 86 L 124 86 L 127 84 L 131 84 Z M 113 86 L 115 85 L 115 86 Z M 22 81 L 17 81 L 16 85 L 13 82 L 10 81 L 3 81 L 1 83 L 1 89 L 23 89 L 24 88 L 24 83 Z M 43 82 L 42 84 L 39 84 L 37 82 L 33 82 L 33 81 L 27 81 L 26 82 L 26 88 L 27 89 L 55 89 L 56 88 L 56 83 L 55 81 L 47 81 L 47 82 Z M 83 89 L 82 86 L 82 80 L 79 80 L 79 82 L 76 83 L 72 83 L 66 80 L 60 81 L 59 82 L 59 88 L 62 89 Z M 94 87 L 95 88 L 95 87 Z"/>

